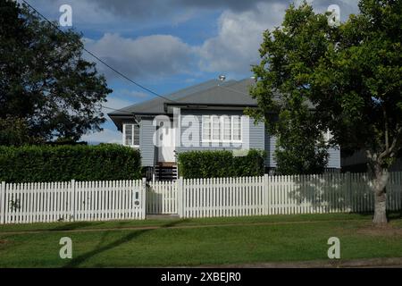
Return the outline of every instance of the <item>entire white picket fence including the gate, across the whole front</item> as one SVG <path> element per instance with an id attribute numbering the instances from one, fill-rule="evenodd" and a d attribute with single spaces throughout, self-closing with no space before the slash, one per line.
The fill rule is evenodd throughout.
<path id="1" fill-rule="evenodd" d="M 0 184 L 0 223 L 372 212 L 365 173 Z M 402 209 L 402 172 L 390 172 L 387 207 Z"/>

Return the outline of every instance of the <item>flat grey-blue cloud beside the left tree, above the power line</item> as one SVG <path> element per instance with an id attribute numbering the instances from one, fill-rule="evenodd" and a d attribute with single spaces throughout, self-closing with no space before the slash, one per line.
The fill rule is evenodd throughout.
<path id="1" fill-rule="evenodd" d="M 170 35 L 152 35 L 140 38 L 122 38 L 106 33 L 99 40 L 86 39 L 86 46 L 106 63 L 133 78 L 171 76 L 189 71 L 192 48 L 180 38 Z M 100 71 L 111 79 L 116 74 L 98 64 Z"/>

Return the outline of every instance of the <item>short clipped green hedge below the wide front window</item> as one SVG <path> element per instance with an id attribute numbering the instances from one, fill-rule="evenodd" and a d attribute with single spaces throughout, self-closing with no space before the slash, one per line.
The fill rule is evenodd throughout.
<path id="1" fill-rule="evenodd" d="M 249 150 L 247 156 L 231 151 L 190 151 L 178 154 L 180 176 L 187 179 L 264 175 L 265 152 Z"/>

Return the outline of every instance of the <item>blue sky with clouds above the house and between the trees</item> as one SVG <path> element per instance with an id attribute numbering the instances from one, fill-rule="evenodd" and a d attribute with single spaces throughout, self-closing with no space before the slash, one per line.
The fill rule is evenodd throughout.
<path id="1" fill-rule="evenodd" d="M 118 71 L 160 95 L 217 79 L 252 76 L 265 29 L 281 26 L 290 3 L 301 0 L 26 0 L 48 19 L 58 21 L 71 5 L 72 28 L 86 48 Z M 21 2 L 21 1 L 20 1 Z M 357 0 L 307 0 L 317 13 L 331 4 L 340 19 L 358 13 Z M 96 62 L 90 55 L 90 61 Z M 97 63 L 113 93 L 105 106 L 119 109 L 155 96 Z M 104 108 L 104 113 L 112 110 Z M 101 132 L 88 143 L 121 143 L 121 133 L 106 115 Z"/>

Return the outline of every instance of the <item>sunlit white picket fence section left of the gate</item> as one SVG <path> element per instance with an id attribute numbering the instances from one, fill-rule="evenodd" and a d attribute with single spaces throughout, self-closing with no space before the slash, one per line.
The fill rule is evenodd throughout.
<path id="1" fill-rule="evenodd" d="M 0 223 L 145 219 L 145 181 L 1 184 Z"/>

